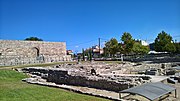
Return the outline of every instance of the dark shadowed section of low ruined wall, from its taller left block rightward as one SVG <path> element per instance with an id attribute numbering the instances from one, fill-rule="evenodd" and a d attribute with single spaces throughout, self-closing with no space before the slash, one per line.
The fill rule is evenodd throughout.
<path id="1" fill-rule="evenodd" d="M 121 83 L 118 81 L 103 79 L 97 76 L 72 76 L 65 71 L 49 70 L 48 79 L 49 82 L 57 84 L 67 84 L 75 86 L 85 86 L 97 89 L 105 89 L 109 91 L 119 92 L 121 90 L 129 88 L 129 83 Z"/>

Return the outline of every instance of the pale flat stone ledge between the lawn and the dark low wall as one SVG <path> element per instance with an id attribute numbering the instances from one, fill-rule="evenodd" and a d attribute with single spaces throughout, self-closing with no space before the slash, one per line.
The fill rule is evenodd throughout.
<path id="1" fill-rule="evenodd" d="M 88 87 L 80 87 L 80 86 L 72 86 L 72 85 L 64 85 L 64 84 L 55 84 L 52 82 L 46 82 L 44 79 L 37 79 L 37 78 L 26 78 L 22 81 L 25 81 L 30 84 L 38 84 L 42 86 L 48 86 L 48 87 L 55 87 L 55 88 L 62 88 L 70 91 L 74 91 L 77 93 L 92 95 L 96 97 L 103 97 L 110 100 L 115 101 L 124 101 L 122 99 L 119 99 L 119 93 L 113 92 L 113 91 L 107 91 L 107 90 L 100 90 L 100 89 L 94 89 L 94 88 L 88 88 Z"/>

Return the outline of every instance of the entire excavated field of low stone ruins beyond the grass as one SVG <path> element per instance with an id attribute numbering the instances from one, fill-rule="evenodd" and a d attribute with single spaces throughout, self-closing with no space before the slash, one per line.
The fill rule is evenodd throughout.
<path id="1" fill-rule="evenodd" d="M 92 61 L 77 64 L 64 63 L 51 67 L 27 67 L 17 70 L 31 76 L 23 79 L 27 83 L 63 88 L 112 100 L 122 100 L 119 98 L 119 91 L 131 87 L 150 82 L 173 81 L 174 83 L 175 80 L 165 76 L 169 75 L 174 64 L 179 65 L 178 63 Z M 173 76 L 173 78 L 178 80 L 179 76 Z"/>

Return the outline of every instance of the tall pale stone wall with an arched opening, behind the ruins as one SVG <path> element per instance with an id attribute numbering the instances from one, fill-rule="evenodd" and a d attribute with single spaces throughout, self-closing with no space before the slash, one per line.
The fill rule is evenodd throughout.
<path id="1" fill-rule="evenodd" d="M 70 60 L 65 42 L 0 40 L 0 66 Z"/>

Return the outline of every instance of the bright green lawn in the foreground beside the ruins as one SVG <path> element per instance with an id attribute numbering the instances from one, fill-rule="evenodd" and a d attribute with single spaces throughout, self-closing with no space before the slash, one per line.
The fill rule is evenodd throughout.
<path id="1" fill-rule="evenodd" d="M 104 101 L 98 97 L 67 90 L 27 84 L 27 75 L 13 70 L 0 70 L 0 101 Z"/>

